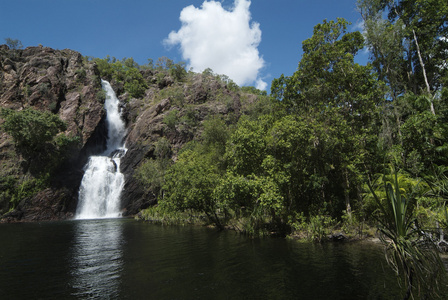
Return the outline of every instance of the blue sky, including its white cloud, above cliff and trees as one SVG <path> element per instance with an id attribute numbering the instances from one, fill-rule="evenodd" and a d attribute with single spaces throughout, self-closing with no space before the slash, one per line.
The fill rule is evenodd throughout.
<path id="1" fill-rule="evenodd" d="M 343 17 L 353 30 L 361 20 L 356 0 L 206 2 L 0 0 L 0 43 L 9 37 L 25 47 L 132 57 L 139 64 L 166 56 L 195 71 L 209 64 L 240 85 L 269 90 L 274 78 L 296 70 L 302 41 L 311 37 L 314 25 Z"/>

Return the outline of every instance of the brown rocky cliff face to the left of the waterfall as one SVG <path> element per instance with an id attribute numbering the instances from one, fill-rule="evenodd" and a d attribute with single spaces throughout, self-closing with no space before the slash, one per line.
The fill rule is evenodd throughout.
<path id="1" fill-rule="evenodd" d="M 104 99 L 98 97 L 101 82 L 95 64 L 72 50 L 29 47 L 10 50 L 0 46 L 0 106 L 22 110 L 28 107 L 51 111 L 66 122 L 68 136 L 79 137 L 64 170 L 50 187 L 20 199 L 5 219 L 59 219 L 70 217 L 76 207 L 82 164 L 89 152 L 104 143 Z M 2 120 L 0 119 L 0 123 Z M 17 188 L 29 181 L 27 162 L 15 149 L 12 138 L 0 132 L 0 177 L 16 180 Z M 10 193 L 0 186 L 0 214 L 10 209 Z M 16 195 L 17 196 L 17 195 Z"/>

